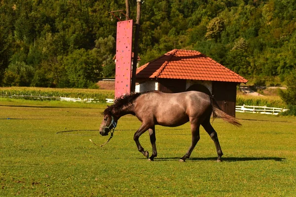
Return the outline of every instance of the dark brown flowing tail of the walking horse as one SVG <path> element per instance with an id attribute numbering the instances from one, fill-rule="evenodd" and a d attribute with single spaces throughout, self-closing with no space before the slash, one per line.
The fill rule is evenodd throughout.
<path id="1" fill-rule="evenodd" d="M 221 110 L 221 108 L 219 107 L 214 97 L 210 96 L 210 98 L 211 98 L 211 104 L 212 104 L 212 110 L 213 110 L 213 119 L 218 117 L 218 118 L 222 118 L 223 121 L 228 122 L 236 127 L 242 126 L 242 124 L 240 124 L 236 118 L 234 118 L 233 116 L 229 116 L 228 114 L 226 114 Z"/>

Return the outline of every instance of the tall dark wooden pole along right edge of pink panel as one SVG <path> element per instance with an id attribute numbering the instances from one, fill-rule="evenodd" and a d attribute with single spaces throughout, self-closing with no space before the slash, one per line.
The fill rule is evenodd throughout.
<path id="1" fill-rule="evenodd" d="M 136 90 L 136 72 L 137 72 L 138 50 L 139 50 L 141 4 L 142 4 L 141 0 L 137 0 L 137 19 L 135 24 L 136 31 L 135 31 L 135 43 L 134 43 L 134 60 L 133 60 L 131 92 L 135 92 Z"/>

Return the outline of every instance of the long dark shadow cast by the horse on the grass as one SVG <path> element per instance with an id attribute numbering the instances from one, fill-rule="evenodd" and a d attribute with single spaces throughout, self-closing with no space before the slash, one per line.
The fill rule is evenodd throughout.
<path id="1" fill-rule="evenodd" d="M 174 161 L 180 160 L 179 157 L 172 157 L 172 158 L 155 158 L 156 162 L 162 161 Z M 207 157 L 207 158 L 189 158 L 186 161 L 216 161 L 217 157 Z M 286 158 L 279 158 L 279 157 L 223 157 L 222 162 L 248 162 L 248 161 L 276 161 L 276 162 L 284 162 Z"/>

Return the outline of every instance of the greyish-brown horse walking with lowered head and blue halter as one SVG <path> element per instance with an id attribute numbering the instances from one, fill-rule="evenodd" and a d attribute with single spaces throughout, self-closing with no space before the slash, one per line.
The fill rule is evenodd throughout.
<path id="1" fill-rule="evenodd" d="M 234 117 L 229 116 L 220 109 L 213 97 L 203 92 L 162 93 L 159 91 L 148 91 L 145 93 L 131 93 L 115 99 L 114 104 L 104 110 L 100 134 L 103 136 L 108 135 L 109 131 L 114 131 L 120 117 L 132 114 L 142 122 L 141 127 L 134 134 L 137 148 L 149 161 L 154 161 L 154 158 L 157 157 L 155 125 L 178 127 L 189 121 L 192 142 L 188 151 L 180 159 L 180 162 L 185 162 L 190 157 L 200 139 L 200 125 L 213 139 L 218 154 L 217 162 L 221 162 L 223 153 L 217 132 L 211 125 L 212 113 L 213 121 L 216 117 L 219 117 L 232 125 L 241 126 Z M 152 145 L 150 157 L 148 151 L 145 151 L 139 142 L 139 137 L 146 131 L 149 132 Z"/>

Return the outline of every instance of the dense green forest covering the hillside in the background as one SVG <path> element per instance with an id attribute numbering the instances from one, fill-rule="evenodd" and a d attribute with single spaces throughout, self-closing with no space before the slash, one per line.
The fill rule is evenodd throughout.
<path id="1" fill-rule="evenodd" d="M 114 76 L 125 0 L 0 0 L 0 86 L 94 88 Z M 130 0 L 136 19 L 136 0 Z M 197 50 L 247 79 L 296 73 L 295 0 L 145 0 L 140 65 Z M 125 20 L 125 17 L 121 20 Z"/>

